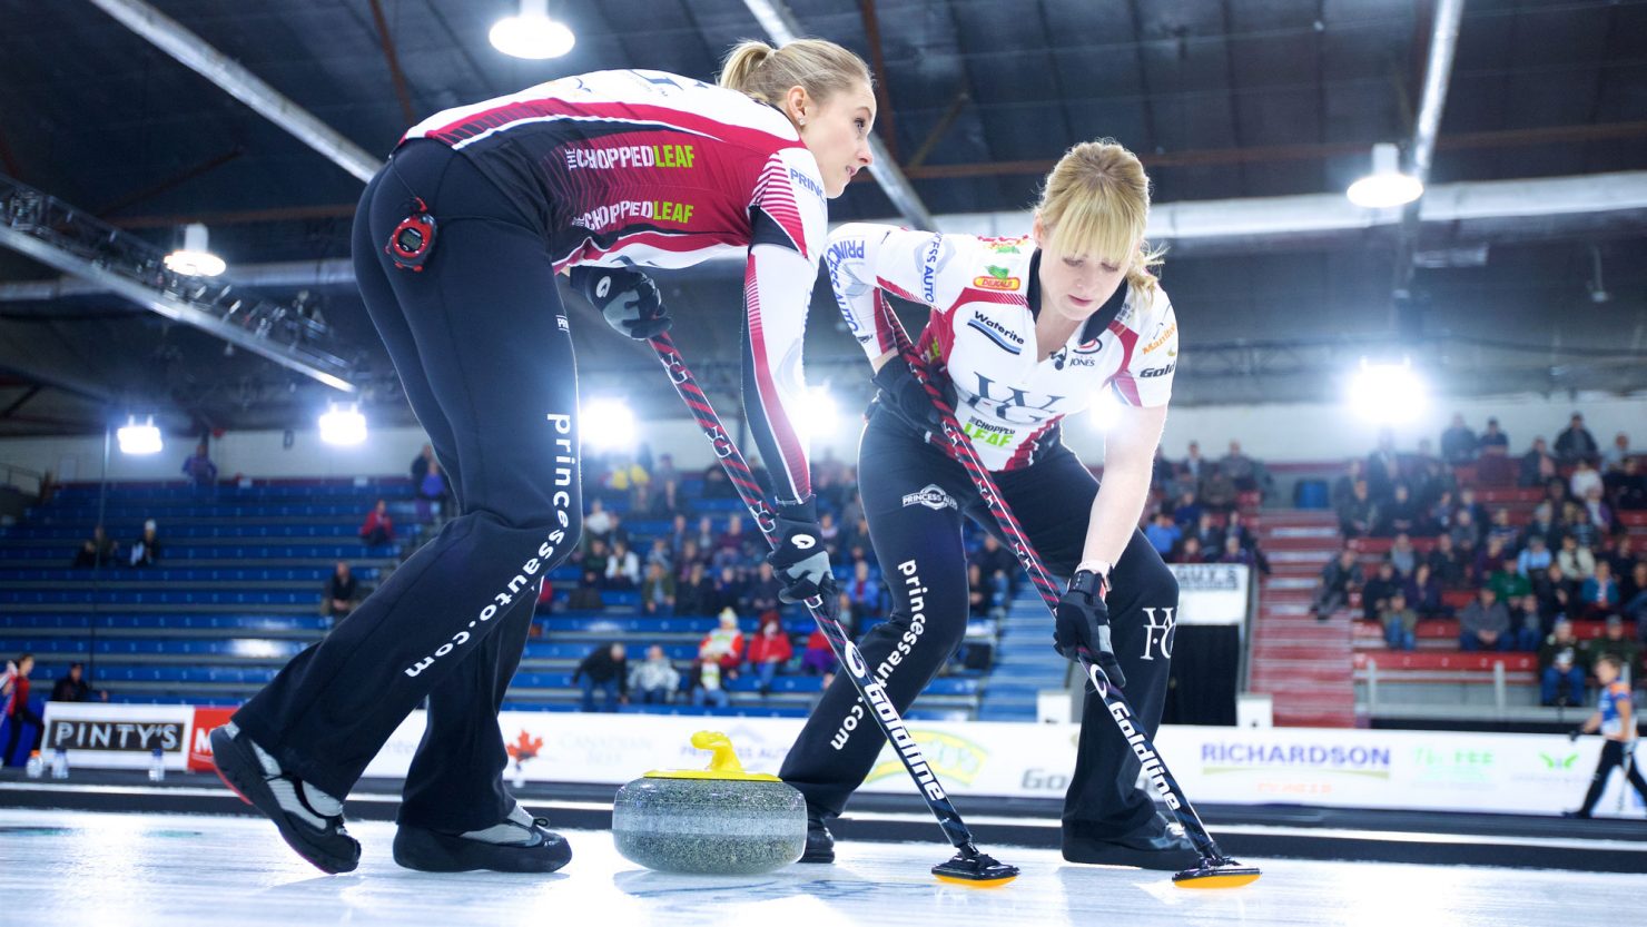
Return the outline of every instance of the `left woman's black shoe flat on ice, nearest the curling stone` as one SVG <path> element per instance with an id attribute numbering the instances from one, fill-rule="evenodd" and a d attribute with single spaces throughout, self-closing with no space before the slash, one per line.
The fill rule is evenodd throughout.
<path id="1" fill-rule="evenodd" d="M 572 846 L 519 804 L 502 822 L 466 833 L 446 833 L 402 823 L 395 832 L 395 863 L 420 873 L 553 873 L 572 861 Z"/>

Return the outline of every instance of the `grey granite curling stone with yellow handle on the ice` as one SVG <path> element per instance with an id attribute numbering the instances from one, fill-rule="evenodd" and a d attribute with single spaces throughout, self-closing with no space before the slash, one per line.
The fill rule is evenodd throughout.
<path id="1" fill-rule="evenodd" d="M 753 876 L 800 859 L 807 802 L 776 776 L 744 772 L 726 734 L 698 731 L 708 769 L 647 772 L 618 790 L 613 841 L 660 873 Z"/>

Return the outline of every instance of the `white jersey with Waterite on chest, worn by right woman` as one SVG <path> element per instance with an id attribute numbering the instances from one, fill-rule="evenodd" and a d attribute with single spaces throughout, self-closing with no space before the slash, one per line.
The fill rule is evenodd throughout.
<path id="1" fill-rule="evenodd" d="M 1166 405 L 1173 395 L 1178 319 L 1159 286 L 1120 286 L 1062 347 L 1038 359 L 1039 250 L 1028 235 L 851 222 L 830 235 L 824 263 L 847 326 L 871 359 L 896 347 L 884 293 L 932 310 L 921 356 L 954 382 L 955 415 L 990 469 L 1039 459 L 1059 440 L 1059 422 L 1103 389 L 1133 407 Z"/>

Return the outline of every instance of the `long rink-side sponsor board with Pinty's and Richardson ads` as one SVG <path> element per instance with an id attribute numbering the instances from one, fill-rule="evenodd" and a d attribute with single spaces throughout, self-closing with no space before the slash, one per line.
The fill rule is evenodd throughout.
<path id="1" fill-rule="evenodd" d="M 189 752 L 196 767 L 206 767 L 206 734 L 222 715 L 188 706 L 49 703 L 44 746 L 49 756 L 58 739 L 71 744 L 72 767 L 145 767 L 155 746 L 171 769 L 183 769 Z M 511 779 L 609 785 L 651 769 L 703 767 L 707 754 L 690 746 L 702 729 L 730 734 L 748 769 L 776 772 L 802 724 L 797 718 L 539 711 L 506 711 L 499 723 L 511 749 Z M 145 731 L 148 739 L 138 736 Z M 932 721 L 911 724 L 911 731 L 955 795 L 1056 799 L 1075 764 L 1074 724 Z M 875 736 L 875 728 L 865 720 L 840 734 Z M 72 748 L 92 736 L 99 749 Z M 366 776 L 404 777 L 422 736 L 418 711 Z M 1201 804 L 1509 813 L 1576 807 L 1601 752 L 1599 738 L 1570 743 L 1551 734 L 1316 728 L 1166 726 L 1158 746 L 1184 792 Z M 865 790 L 907 789 L 903 766 L 883 751 Z M 1621 789 L 1622 777 L 1614 776 L 1598 813 L 1619 810 Z M 1634 792 L 1622 807 L 1626 815 L 1644 812 Z"/>

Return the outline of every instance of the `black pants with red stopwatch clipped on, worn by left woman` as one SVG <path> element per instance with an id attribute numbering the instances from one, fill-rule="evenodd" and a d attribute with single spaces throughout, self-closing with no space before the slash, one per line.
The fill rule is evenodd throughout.
<path id="1" fill-rule="evenodd" d="M 438 222 L 422 272 L 384 254 L 413 194 Z M 514 807 L 497 711 L 539 583 L 581 530 L 576 370 L 544 242 L 438 142 L 407 143 L 366 188 L 361 295 L 460 514 L 234 716 L 282 767 L 341 799 L 427 698 L 404 823 L 478 830 Z"/>

